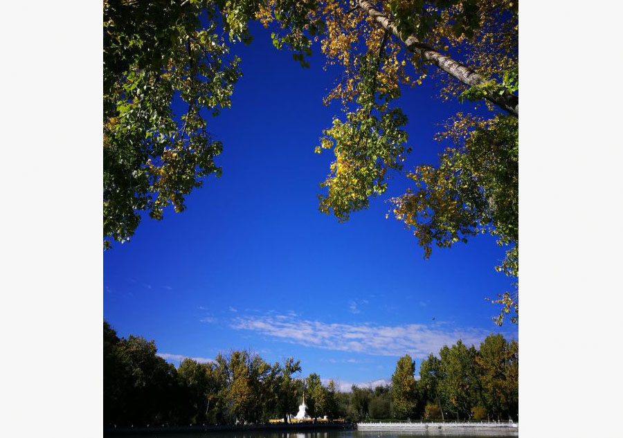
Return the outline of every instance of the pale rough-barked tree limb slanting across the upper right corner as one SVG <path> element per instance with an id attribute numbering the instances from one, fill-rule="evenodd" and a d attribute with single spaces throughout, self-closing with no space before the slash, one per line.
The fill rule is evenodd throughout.
<path id="1" fill-rule="evenodd" d="M 408 49 L 408 51 L 417 53 L 423 60 L 435 64 L 452 77 L 460 80 L 463 84 L 468 86 L 480 85 L 485 82 L 484 78 L 478 73 L 470 69 L 468 66 L 461 64 L 458 61 L 453 60 L 451 57 L 442 55 L 442 53 L 436 51 L 431 46 L 419 42 L 415 35 L 410 35 L 407 39 L 403 39 L 398 31 L 398 28 L 394 22 L 386 15 L 383 15 L 378 10 L 374 9 L 372 4 L 365 0 L 357 0 L 359 8 L 367 13 L 374 21 L 377 21 L 383 29 L 390 31 L 397 39 L 399 39 Z M 508 113 L 515 117 L 519 117 L 519 98 L 512 93 L 504 93 L 498 95 L 496 93 L 489 93 L 487 100 L 498 105 L 498 107 L 504 109 Z"/>

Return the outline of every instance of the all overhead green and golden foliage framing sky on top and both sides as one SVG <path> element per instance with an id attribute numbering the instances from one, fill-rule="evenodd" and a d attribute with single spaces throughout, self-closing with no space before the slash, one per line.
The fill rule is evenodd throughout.
<path id="1" fill-rule="evenodd" d="M 487 233 L 507 246 L 499 270 L 517 277 L 514 0 L 106 0 L 105 245 L 132 237 L 143 212 L 161 219 L 168 206 L 184 210 L 192 189 L 219 176 L 223 146 L 202 114 L 231 105 L 242 75 L 231 46 L 251 42 L 253 20 L 302 66 L 318 48 L 341 70 L 325 97 L 341 114 L 316 147 L 335 156 L 320 210 L 340 221 L 386 192 L 388 172 L 403 170 L 410 145 L 396 100 L 404 89 L 432 77 L 442 99 L 491 110 L 449 120 L 438 136 L 446 142 L 439 163 L 410 170 L 412 187 L 390 202 L 425 257 Z M 178 101 L 183 111 L 174 113 Z M 502 305 L 498 323 L 509 313 L 516 321 L 516 288 L 494 302 Z"/>

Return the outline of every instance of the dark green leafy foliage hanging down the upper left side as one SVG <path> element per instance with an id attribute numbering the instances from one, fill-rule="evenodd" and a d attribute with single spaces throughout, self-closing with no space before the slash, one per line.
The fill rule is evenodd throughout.
<path id="1" fill-rule="evenodd" d="M 105 247 L 132 237 L 141 212 L 182 211 L 193 188 L 219 176 L 222 145 L 201 109 L 231 105 L 240 60 L 222 31 L 251 39 L 236 14 L 224 1 L 104 1 Z M 177 97 L 186 109 L 176 114 Z"/>

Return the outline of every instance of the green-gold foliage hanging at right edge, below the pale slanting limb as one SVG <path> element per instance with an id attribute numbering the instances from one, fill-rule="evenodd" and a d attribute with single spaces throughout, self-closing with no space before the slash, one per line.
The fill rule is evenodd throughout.
<path id="1" fill-rule="evenodd" d="M 440 165 L 419 165 L 408 174 L 415 190 L 391 199 L 395 217 L 413 228 L 425 256 L 433 244 L 449 248 L 467 237 L 489 233 L 508 246 L 496 270 L 518 277 L 518 121 L 509 116 L 484 120 L 459 114 L 438 139 L 449 140 Z M 494 318 L 518 322 L 518 289 L 498 294 Z"/>

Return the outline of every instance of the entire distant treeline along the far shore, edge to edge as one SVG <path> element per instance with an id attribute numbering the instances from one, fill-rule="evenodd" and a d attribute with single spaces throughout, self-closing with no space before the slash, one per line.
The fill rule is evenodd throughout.
<path id="1" fill-rule="evenodd" d="M 118 338 L 104 322 L 104 422 L 147 424 L 267 423 L 296 414 L 305 393 L 311 418 L 437 419 L 512 415 L 517 410 L 517 344 L 489 336 L 480 350 L 460 341 L 431 354 L 415 380 L 415 363 L 400 358 L 392 384 L 339 392 L 318 374 L 299 378 L 300 361 L 269 364 L 258 354 L 219 354 L 211 363 L 190 358 L 176 369 L 141 336 Z"/>

